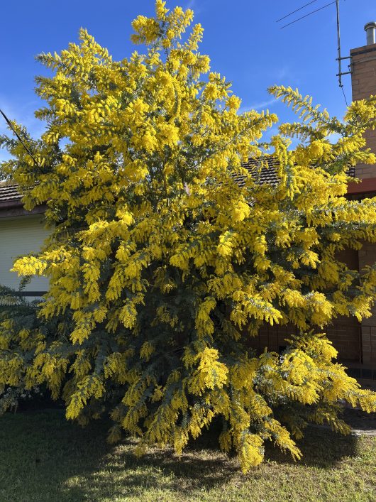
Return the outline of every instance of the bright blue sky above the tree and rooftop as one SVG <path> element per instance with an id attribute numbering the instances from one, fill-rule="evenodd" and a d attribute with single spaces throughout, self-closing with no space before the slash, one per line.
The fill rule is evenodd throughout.
<path id="1" fill-rule="evenodd" d="M 331 114 L 342 116 L 345 103 L 337 82 L 335 5 L 288 28 L 275 21 L 309 0 L 167 0 L 195 12 L 204 26 L 201 53 L 211 58 L 211 68 L 233 82 L 243 99 L 243 109 L 269 108 L 282 120 L 290 118 L 282 104 L 267 94 L 272 84 L 299 87 Z M 316 0 L 289 17 L 318 9 L 330 0 Z M 343 55 L 365 45 L 363 26 L 376 20 L 375 0 L 341 0 Z M 42 125 L 33 118 L 40 104 L 33 92 L 35 75 L 43 67 L 38 53 L 60 51 L 77 41 L 79 27 L 87 28 L 114 58 L 131 54 L 131 21 L 138 14 L 153 14 L 153 0 L 20 0 L 1 5 L 0 107 L 9 118 L 28 126 L 38 136 Z M 345 62 L 346 65 L 346 62 Z M 343 77 L 346 97 L 351 97 L 350 76 Z M 0 124 L 0 132 L 5 130 Z M 0 151 L 0 160 L 5 154 Z"/>

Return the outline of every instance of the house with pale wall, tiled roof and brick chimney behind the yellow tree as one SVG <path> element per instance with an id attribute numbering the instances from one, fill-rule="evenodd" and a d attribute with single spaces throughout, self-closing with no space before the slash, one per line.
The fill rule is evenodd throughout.
<path id="1" fill-rule="evenodd" d="M 350 69 L 353 100 L 376 94 L 376 23 L 367 23 L 367 45 L 350 51 Z M 367 145 L 376 153 L 376 131 L 367 131 Z M 270 158 L 269 169 L 258 171 L 257 161 L 244 164 L 260 183 L 277 182 L 275 159 Z M 376 195 L 376 165 L 357 165 L 352 175 L 362 180 L 350 183 L 348 197 L 360 199 Z M 241 183 L 241 179 L 238 180 Z M 38 251 L 48 231 L 41 224 L 43 207 L 26 212 L 15 185 L 0 185 L 0 283 L 18 286 L 16 274 L 9 272 L 13 259 L 23 253 Z M 343 260 L 353 269 L 363 268 L 376 261 L 376 244 L 365 244 L 358 251 L 348 250 Z M 33 278 L 23 295 L 35 297 L 43 294 L 48 285 L 43 278 Z M 376 306 L 372 317 L 358 322 L 355 318 L 338 319 L 326 329 L 329 339 L 338 349 L 339 359 L 350 368 L 353 376 L 376 379 Z M 253 340 L 255 348 L 267 346 L 280 350 L 284 337 L 291 334 L 289 327 L 261 329 Z"/>

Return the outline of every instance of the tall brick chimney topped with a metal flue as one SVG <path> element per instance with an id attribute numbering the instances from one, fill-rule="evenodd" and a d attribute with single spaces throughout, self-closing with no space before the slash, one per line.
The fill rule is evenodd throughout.
<path id="1" fill-rule="evenodd" d="M 353 101 L 376 95 L 376 22 L 367 23 L 364 29 L 367 45 L 350 50 Z M 368 148 L 376 153 L 376 130 L 367 131 L 365 138 Z M 357 165 L 356 176 L 361 179 L 376 178 L 376 165 Z M 366 184 L 363 182 L 358 186 Z"/>

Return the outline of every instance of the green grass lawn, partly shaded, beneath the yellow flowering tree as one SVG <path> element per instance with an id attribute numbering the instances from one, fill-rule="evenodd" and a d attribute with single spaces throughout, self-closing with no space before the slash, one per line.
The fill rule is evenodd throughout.
<path id="1" fill-rule="evenodd" d="M 236 459 L 191 447 L 136 459 L 131 442 L 106 444 L 107 425 L 85 429 L 59 410 L 5 415 L 0 425 L 0 501 L 372 501 L 376 439 L 311 429 L 301 462 L 267 451 L 243 475 Z M 201 448 L 203 445 L 201 444 Z"/>

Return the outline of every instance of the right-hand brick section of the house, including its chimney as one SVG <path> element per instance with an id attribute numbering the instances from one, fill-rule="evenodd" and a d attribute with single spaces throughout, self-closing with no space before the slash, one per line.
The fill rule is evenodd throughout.
<path id="1" fill-rule="evenodd" d="M 353 101 L 376 95 L 376 23 L 365 25 L 367 45 L 350 50 L 350 72 Z M 376 153 L 376 130 L 365 133 L 367 146 Z M 251 167 L 250 163 L 245 167 Z M 273 166 L 271 165 L 272 171 Z M 365 197 L 376 196 L 376 165 L 358 164 L 355 173 L 350 175 L 362 180 L 360 183 L 348 185 L 349 199 L 360 200 Z M 264 175 L 265 176 L 265 175 Z M 272 182 L 272 173 L 261 182 Z M 343 261 L 353 268 L 360 270 L 376 261 L 376 244 L 365 244 L 360 251 L 348 249 Z M 338 318 L 331 326 L 326 327 L 328 338 L 338 350 L 338 359 L 349 368 L 349 373 L 356 378 L 372 378 L 376 380 L 376 305 L 372 316 L 363 322 L 355 318 Z M 253 341 L 253 347 L 280 351 L 284 346 L 284 338 L 291 334 L 289 327 L 267 327 L 261 329 L 258 337 Z"/>

